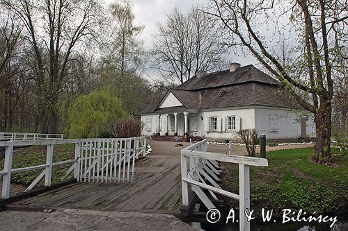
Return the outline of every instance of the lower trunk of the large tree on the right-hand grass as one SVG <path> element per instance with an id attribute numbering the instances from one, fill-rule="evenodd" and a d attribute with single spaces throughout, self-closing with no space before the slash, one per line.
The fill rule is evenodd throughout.
<path id="1" fill-rule="evenodd" d="M 331 105 L 319 108 L 315 114 L 316 142 L 314 161 L 319 164 L 331 164 Z"/>

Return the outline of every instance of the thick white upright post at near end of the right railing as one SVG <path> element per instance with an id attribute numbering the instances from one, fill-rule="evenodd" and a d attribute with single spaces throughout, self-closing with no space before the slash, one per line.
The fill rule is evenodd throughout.
<path id="1" fill-rule="evenodd" d="M 250 231 L 250 222 L 245 216 L 245 209 L 250 209 L 250 166 L 239 164 L 239 230 Z"/>

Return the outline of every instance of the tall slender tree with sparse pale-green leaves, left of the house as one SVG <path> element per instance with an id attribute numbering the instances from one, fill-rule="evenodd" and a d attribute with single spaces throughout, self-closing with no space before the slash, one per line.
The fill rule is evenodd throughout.
<path id="1" fill-rule="evenodd" d="M 147 81 L 143 70 L 144 26 L 136 25 L 132 3 L 115 1 L 109 6 L 109 33 L 104 40 L 100 86 L 107 85 L 122 100 L 129 114 L 139 112 L 145 97 Z"/>

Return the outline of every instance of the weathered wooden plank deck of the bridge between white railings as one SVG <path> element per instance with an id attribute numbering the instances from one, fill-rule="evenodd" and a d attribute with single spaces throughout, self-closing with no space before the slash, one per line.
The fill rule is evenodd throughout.
<path id="1" fill-rule="evenodd" d="M 179 211 L 180 157 L 154 155 L 136 163 L 134 182 L 78 182 L 19 200 L 16 206 Z"/>

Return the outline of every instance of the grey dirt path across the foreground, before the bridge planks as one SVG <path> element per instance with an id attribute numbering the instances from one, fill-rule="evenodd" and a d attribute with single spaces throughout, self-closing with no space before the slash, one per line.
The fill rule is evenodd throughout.
<path id="1" fill-rule="evenodd" d="M 173 215 L 65 209 L 0 212 L 0 230 L 196 230 Z"/>

